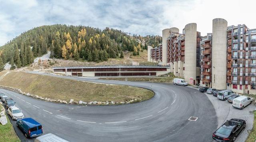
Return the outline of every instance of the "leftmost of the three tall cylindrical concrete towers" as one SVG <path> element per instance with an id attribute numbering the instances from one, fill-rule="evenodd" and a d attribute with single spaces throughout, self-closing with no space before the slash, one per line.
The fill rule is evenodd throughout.
<path id="1" fill-rule="evenodd" d="M 167 65 L 167 37 L 170 35 L 170 29 L 162 31 L 162 65 Z"/>

